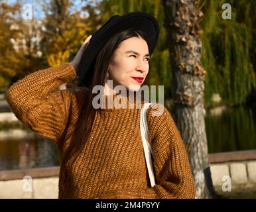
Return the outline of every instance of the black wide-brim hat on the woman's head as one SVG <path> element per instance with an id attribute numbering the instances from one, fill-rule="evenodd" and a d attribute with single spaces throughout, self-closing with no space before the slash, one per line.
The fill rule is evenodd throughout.
<path id="1" fill-rule="evenodd" d="M 135 11 L 125 15 L 112 16 L 105 25 L 101 26 L 97 32 L 92 35 L 86 50 L 80 61 L 78 74 L 80 81 L 89 87 L 96 56 L 107 43 L 107 40 L 114 34 L 126 30 L 127 28 L 139 29 L 147 34 L 149 40 L 149 54 L 152 54 L 159 40 L 159 23 L 153 15 L 142 11 Z"/>

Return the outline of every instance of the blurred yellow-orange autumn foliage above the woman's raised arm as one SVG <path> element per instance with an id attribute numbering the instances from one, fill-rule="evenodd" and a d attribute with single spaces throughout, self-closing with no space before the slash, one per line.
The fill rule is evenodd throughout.
<path id="1" fill-rule="evenodd" d="M 98 25 L 96 14 L 84 19 L 81 11 L 69 13 L 69 5 L 52 5 L 54 2 L 50 1 L 50 12 L 44 11 L 44 19 L 29 23 L 21 19 L 19 3 L 0 3 L 0 87 L 13 77 L 23 78 L 39 68 L 70 62 Z M 38 57 L 37 52 L 42 56 Z"/>

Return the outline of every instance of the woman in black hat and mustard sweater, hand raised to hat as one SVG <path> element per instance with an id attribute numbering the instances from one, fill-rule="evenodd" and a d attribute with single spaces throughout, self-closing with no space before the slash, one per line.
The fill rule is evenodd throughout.
<path id="1" fill-rule="evenodd" d="M 131 23 L 137 23 L 136 29 Z M 104 103 L 109 103 L 109 96 L 119 97 L 107 79 L 113 87 L 122 85 L 136 95 L 157 44 L 158 28 L 149 36 L 149 27 L 155 23 L 143 12 L 111 17 L 86 38 L 72 62 L 34 72 L 7 91 L 17 118 L 58 146 L 59 198 L 195 198 L 186 149 L 166 107 L 159 116 L 151 113 L 153 107 L 147 110 L 157 180 L 151 187 L 140 134 L 141 108 L 95 109 L 93 105 L 96 85 L 103 86 Z M 76 76 L 86 87 L 54 91 Z M 129 95 L 125 101 L 130 103 Z"/>

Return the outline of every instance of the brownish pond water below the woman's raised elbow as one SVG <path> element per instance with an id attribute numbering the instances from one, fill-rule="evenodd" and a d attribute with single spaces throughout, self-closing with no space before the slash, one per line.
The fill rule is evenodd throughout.
<path id="1" fill-rule="evenodd" d="M 0 141 L 0 170 L 59 166 L 56 144 L 48 138 Z"/>

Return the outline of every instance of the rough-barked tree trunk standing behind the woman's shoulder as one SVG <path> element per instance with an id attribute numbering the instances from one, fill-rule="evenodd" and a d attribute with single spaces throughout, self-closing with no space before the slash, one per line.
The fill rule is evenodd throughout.
<path id="1" fill-rule="evenodd" d="M 198 19 L 202 11 L 195 0 L 162 0 L 164 27 L 172 67 L 172 97 L 174 120 L 180 131 L 188 156 L 197 198 L 214 196 L 208 145 L 204 123 L 204 78 L 206 71 L 200 62 L 202 43 Z"/>

